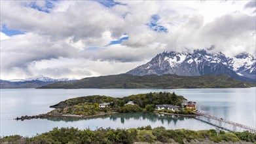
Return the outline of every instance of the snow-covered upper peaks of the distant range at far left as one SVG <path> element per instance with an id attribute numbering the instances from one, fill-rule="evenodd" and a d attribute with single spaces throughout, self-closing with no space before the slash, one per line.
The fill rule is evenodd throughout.
<path id="1" fill-rule="evenodd" d="M 57 82 L 57 81 L 75 81 L 75 79 L 67 79 L 67 78 L 62 78 L 62 79 L 52 79 L 50 77 L 45 77 L 43 75 L 37 75 L 35 77 L 30 77 L 27 79 L 12 79 L 9 80 L 10 82 L 24 82 L 24 81 L 43 81 L 43 82 Z"/>

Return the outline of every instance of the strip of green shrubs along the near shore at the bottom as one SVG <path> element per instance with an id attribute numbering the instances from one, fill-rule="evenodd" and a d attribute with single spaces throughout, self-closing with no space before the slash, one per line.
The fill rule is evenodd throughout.
<path id="1" fill-rule="evenodd" d="M 1 143 L 218 143 L 218 142 L 256 142 L 256 134 L 249 132 L 223 132 L 215 130 L 166 130 L 164 127 L 78 130 L 77 128 L 54 128 L 50 132 L 33 137 L 10 135 L 0 138 Z"/>

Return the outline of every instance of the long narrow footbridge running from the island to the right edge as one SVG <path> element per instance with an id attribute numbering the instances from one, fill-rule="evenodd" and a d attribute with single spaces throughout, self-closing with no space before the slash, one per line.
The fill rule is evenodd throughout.
<path id="1" fill-rule="evenodd" d="M 210 124 L 213 124 L 219 128 L 223 128 L 225 130 L 229 130 L 232 132 L 241 132 L 246 130 L 248 132 L 256 134 L 256 128 L 253 128 L 251 126 L 246 126 L 244 124 L 239 124 L 237 122 L 231 122 L 223 118 L 213 117 L 211 115 L 206 115 L 196 111 L 192 111 L 192 113 L 196 114 L 196 119 L 202 120 L 204 122 L 208 122 Z"/>

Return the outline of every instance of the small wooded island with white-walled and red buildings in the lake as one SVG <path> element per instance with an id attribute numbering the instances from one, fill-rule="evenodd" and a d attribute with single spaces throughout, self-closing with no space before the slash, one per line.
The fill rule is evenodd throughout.
<path id="1" fill-rule="evenodd" d="M 109 96 L 83 96 L 60 101 L 50 107 L 54 110 L 36 116 L 22 116 L 16 120 L 47 117 L 97 117 L 115 113 L 136 113 L 141 111 L 161 113 L 165 115 L 194 115 L 196 102 L 187 101 L 175 92 L 154 92 L 137 94 L 123 98 Z"/>

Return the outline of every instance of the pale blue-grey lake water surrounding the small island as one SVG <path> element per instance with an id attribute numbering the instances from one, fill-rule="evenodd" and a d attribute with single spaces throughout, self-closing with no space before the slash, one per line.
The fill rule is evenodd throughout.
<path id="1" fill-rule="evenodd" d="M 96 118 L 48 118 L 16 121 L 13 118 L 23 115 L 47 113 L 60 101 L 79 96 L 105 95 L 112 97 L 130 96 L 148 92 L 175 92 L 177 95 L 196 101 L 202 113 L 225 118 L 233 122 L 256 127 L 256 88 L 223 89 L 0 89 L 1 94 L 1 136 L 32 136 L 48 132 L 54 127 L 90 128 L 137 128 L 151 125 L 153 128 L 164 126 L 167 129 L 185 128 L 206 130 L 215 128 L 210 124 L 189 117 L 158 117 L 154 113 L 130 113 L 108 115 Z"/>

